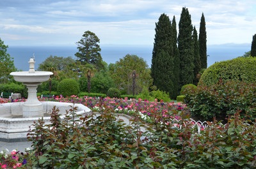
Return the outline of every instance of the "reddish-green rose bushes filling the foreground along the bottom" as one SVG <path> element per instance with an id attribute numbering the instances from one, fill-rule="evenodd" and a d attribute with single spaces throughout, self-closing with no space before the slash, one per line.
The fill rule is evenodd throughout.
<path id="1" fill-rule="evenodd" d="M 77 119 L 72 107 L 62 120 L 53 108 L 51 124 L 35 122 L 28 135 L 35 152 L 29 159 L 33 168 L 256 167 L 256 123 L 248 125 L 238 114 L 225 126 L 207 122 L 199 135 L 185 109 L 172 109 L 165 116 L 154 112 L 155 121 L 146 126 L 138 114 L 125 125 L 108 104 L 99 106 L 98 115 Z M 180 121 L 173 122 L 173 114 Z"/>

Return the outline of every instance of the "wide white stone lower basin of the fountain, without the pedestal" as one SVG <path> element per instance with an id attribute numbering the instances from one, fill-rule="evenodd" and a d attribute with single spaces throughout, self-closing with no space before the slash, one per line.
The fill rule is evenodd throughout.
<path id="1" fill-rule="evenodd" d="M 3 103 L 0 105 L 0 141 L 2 142 L 23 142 L 27 140 L 29 126 L 42 117 L 22 117 L 22 107 L 25 102 Z M 50 123 L 49 113 L 56 106 L 59 108 L 61 118 L 70 110 L 72 103 L 61 103 L 54 101 L 42 101 L 45 124 Z M 71 106 L 71 107 L 70 107 Z M 90 108 L 75 104 L 77 115 L 85 115 L 91 112 Z M 48 115 L 48 116 L 47 116 Z"/>

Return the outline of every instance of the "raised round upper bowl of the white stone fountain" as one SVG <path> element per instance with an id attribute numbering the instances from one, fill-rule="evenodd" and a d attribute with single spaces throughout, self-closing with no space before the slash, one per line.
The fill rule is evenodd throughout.
<path id="1" fill-rule="evenodd" d="M 10 73 L 14 80 L 23 83 L 42 83 L 49 80 L 50 75 L 53 75 L 51 71 L 35 71 L 35 73 L 29 73 L 29 71 L 15 71 Z"/>

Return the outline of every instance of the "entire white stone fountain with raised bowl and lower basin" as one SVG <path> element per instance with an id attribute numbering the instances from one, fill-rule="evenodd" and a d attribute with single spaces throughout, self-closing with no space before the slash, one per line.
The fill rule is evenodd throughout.
<path id="1" fill-rule="evenodd" d="M 51 71 L 35 71 L 35 60 L 29 60 L 29 71 L 16 71 L 10 73 L 17 82 L 28 87 L 26 102 L 0 104 L 0 141 L 19 142 L 26 141 L 28 129 L 34 121 L 44 117 L 45 124 L 49 124 L 51 117 L 45 117 L 52 108 L 60 109 L 61 118 L 70 107 L 77 107 L 76 114 L 83 115 L 91 112 L 90 108 L 82 104 L 61 103 L 54 101 L 38 101 L 36 87 L 49 80 Z"/>

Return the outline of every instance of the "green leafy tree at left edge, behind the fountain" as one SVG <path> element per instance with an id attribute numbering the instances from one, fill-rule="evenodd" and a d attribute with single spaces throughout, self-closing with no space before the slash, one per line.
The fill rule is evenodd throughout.
<path id="1" fill-rule="evenodd" d="M 12 71 L 17 71 L 14 66 L 13 58 L 7 53 L 8 45 L 0 38 L 0 83 L 8 83 L 13 80 L 10 75 Z"/>

